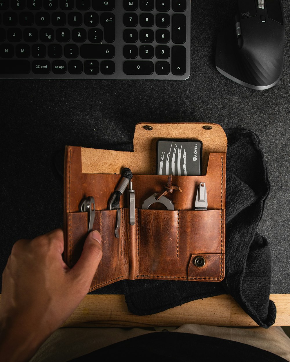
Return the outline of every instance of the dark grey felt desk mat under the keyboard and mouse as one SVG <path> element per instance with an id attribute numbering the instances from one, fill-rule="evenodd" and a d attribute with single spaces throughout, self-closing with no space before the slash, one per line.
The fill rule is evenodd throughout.
<path id="1" fill-rule="evenodd" d="M 11 247 L 62 225 L 63 191 L 51 159 L 66 144 L 120 148 L 138 122 L 219 123 L 258 134 L 270 195 L 258 227 L 272 251 L 272 293 L 290 293 L 289 15 L 279 83 L 251 90 L 214 64 L 218 31 L 231 21 L 230 0 L 192 1 L 191 76 L 186 81 L 1 80 L 1 271 Z"/>

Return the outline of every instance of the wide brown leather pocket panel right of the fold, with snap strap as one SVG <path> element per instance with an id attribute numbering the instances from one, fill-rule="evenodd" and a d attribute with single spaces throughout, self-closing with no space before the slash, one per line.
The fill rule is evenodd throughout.
<path id="1" fill-rule="evenodd" d="M 136 277 L 221 280 L 224 274 L 223 222 L 224 210 L 139 210 Z M 191 266 L 192 256 L 198 254 L 208 255 L 203 267 Z"/>

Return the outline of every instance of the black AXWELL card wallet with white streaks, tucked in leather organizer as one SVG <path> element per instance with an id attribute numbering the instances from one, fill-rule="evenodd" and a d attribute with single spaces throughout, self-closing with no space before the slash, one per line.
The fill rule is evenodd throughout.
<path id="1" fill-rule="evenodd" d="M 201 172 L 202 142 L 161 139 L 157 141 L 157 174 L 198 176 Z"/>

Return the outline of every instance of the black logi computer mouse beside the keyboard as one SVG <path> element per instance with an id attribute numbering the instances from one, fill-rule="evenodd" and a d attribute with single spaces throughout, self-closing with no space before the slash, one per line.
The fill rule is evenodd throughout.
<path id="1" fill-rule="evenodd" d="M 245 87 L 273 87 L 282 74 L 284 43 L 281 0 L 238 0 L 235 25 L 218 35 L 216 68 Z"/>

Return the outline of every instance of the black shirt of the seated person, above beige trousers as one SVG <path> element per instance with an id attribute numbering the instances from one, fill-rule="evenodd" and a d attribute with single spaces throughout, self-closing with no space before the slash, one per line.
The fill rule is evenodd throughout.
<path id="1" fill-rule="evenodd" d="M 179 332 L 156 332 L 129 338 L 71 359 L 70 362 L 113 361 L 285 362 L 286 359 L 248 344 Z"/>

